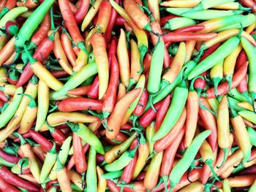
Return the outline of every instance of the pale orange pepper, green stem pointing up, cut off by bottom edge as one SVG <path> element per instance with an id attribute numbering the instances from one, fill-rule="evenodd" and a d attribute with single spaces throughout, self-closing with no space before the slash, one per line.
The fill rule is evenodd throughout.
<path id="1" fill-rule="evenodd" d="M 72 188 L 71 188 L 69 176 L 67 173 L 67 169 L 64 165 L 61 164 L 61 161 L 59 160 L 59 155 L 57 155 L 56 175 L 57 175 L 57 180 L 59 182 L 61 191 L 71 192 Z"/>

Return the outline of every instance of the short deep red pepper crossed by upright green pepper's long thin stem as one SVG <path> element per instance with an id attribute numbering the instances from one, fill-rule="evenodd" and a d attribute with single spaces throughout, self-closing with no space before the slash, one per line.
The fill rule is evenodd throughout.
<path id="1" fill-rule="evenodd" d="M 157 104 L 154 104 L 154 108 L 158 111 L 162 106 L 162 101 L 159 101 Z M 144 115 L 140 118 L 139 124 L 143 127 L 148 127 L 152 120 L 156 118 L 157 112 L 155 112 L 152 108 L 147 110 Z"/>

